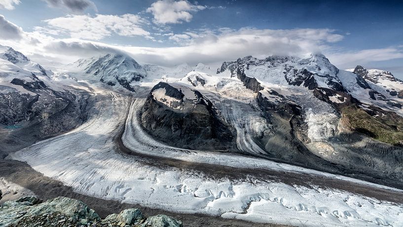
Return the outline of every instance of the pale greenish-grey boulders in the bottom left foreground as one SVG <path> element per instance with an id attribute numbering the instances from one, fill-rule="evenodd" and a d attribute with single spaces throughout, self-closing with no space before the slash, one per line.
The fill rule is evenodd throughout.
<path id="1" fill-rule="evenodd" d="M 0 190 L 1 199 L 1 190 Z M 166 215 L 144 217 L 136 208 L 101 219 L 85 203 L 67 197 L 42 202 L 36 196 L 6 201 L 0 206 L 0 227 L 182 227 Z"/>

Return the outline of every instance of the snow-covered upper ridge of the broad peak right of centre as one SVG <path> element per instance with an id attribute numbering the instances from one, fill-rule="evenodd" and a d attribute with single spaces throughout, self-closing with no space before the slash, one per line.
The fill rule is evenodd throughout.
<path id="1" fill-rule="evenodd" d="M 217 74 L 236 76 L 238 69 L 244 70 L 246 76 L 266 83 L 301 86 L 310 90 L 324 87 L 343 91 L 337 78 L 339 70 L 322 54 L 271 56 L 264 59 L 247 56 L 222 63 Z"/>

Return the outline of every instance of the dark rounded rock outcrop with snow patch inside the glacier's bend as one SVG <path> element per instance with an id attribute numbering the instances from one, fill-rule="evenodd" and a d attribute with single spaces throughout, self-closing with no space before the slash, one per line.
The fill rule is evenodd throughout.
<path id="1" fill-rule="evenodd" d="M 200 92 L 178 84 L 155 85 L 143 108 L 144 128 L 169 145 L 191 150 L 233 147 L 232 129 Z"/>

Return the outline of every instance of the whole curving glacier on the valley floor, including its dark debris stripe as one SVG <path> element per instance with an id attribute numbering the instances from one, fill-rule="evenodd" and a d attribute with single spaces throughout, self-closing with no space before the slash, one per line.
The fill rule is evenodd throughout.
<path id="1" fill-rule="evenodd" d="M 249 225 L 240 220 L 403 225 L 402 190 L 259 158 L 163 145 L 139 126 L 142 100 L 110 91 L 94 96 L 87 122 L 10 154 L 0 177 L 46 198 L 78 198 L 101 216 L 141 204 L 149 207 L 145 213 L 166 213 L 185 226 Z"/>

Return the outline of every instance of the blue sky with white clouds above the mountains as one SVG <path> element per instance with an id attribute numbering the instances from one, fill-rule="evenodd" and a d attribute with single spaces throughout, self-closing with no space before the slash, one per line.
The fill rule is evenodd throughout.
<path id="1" fill-rule="evenodd" d="M 0 0 L 0 44 L 44 65 L 105 53 L 175 66 L 313 52 L 403 79 L 402 12 L 402 0 Z"/>

